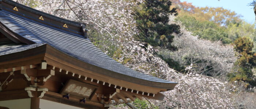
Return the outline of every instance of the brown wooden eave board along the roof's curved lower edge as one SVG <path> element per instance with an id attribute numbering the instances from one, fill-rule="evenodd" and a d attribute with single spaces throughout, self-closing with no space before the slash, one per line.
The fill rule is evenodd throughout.
<path id="1" fill-rule="evenodd" d="M 83 72 L 91 72 L 92 74 L 98 73 L 98 75 L 99 76 L 101 75 L 102 77 L 106 76 L 109 78 L 115 78 L 115 79 L 113 79 L 114 81 L 123 80 L 123 81 L 131 82 L 133 84 L 151 87 L 151 88 L 159 90 L 159 92 L 166 91 L 166 90 L 172 90 L 175 87 L 175 85 L 177 84 L 176 82 L 165 83 L 165 82 L 148 81 L 148 80 L 144 80 L 141 78 L 136 78 L 136 77 L 128 76 L 125 74 L 116 73 L 116 72 L 113 72 L 113 71 L 110 71 L 107 69 L 103 69 L 98 66 L 91 65 L 91 64 L 88 64 L 81 60 L 78 60 L 74 57 L 71 57 L 71 56 L 67 55 L 66 53 L 63 53 L 63 52 L 51 47 L 48 44 L 45 44 L 45 45 L 42 45 L 39 47 L 35 47 L 32 49 L 28 49 L 25 51 L 21 51 L 21 52 L 2 55 L 2 56 L 0 56 L 0 65 L 1 65 L 1 67 L 4 67 L 4 63 L 6 63 L 7 61 L 19 60 L 22 58 L 33 57 L 33 56 L 36 57 L 38 55 L 41 56 L 40 57 L 41 60 L 46 60 L 51 65 L 55 65 L 56 63 L 54 63 L 54 62 L 57 62 L 58 64 L 60 64 L 60 63 L 64 64 L 63 66 L 70 66 L 72 68 L 79 69 L 79 70 L 81 70 L 81 72 L 76 72 L 76 73 L 78 73 L 80 75 L 84 75 Z M 41 62 L 41 60 L 38 60 L 38 62 Z M 63 69 L 65 69 L 65 68 L 63 68 Z M 112 82 L 112 84 L 115 84 L 115 83 Z M 116 84 L 120 84 L 120 83 L 116 83 Z M 146 89 L 142 90 L 142 91 L 147 92 Z"/>

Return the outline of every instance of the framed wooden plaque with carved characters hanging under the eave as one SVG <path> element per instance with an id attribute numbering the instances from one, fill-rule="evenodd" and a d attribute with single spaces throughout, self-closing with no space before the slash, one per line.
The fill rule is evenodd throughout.
<path id="1" fill-rule="evenodd" d="M 79 86 L 80 86 L 79 92 L 80 92 L 83 88 L 92 89 L 92 92 L 91 92 L 90 96 L 84 96 L 83 94 L 79 94 L 79 92 L 77 92 L 77 90 L 76 90 L 76 92 L 74 92 L 74 90 L 72 91 L 72 90 L 70 89 L 70 86 L 71 86 L 71 85 L 74 86 L 74 84 L 75 84 L 74 89 L 75 89 L 76 87 L 79 87 Z M 70 92 L 67 91 L 68 88 L 71 90 Z M 76 81 L 76 80 L 70 79 L 70 80 L 68 80 L 68 82 L 64 85 L 64 87 L 61 89 L 60 94 L 62 94 L 62 95 L 69 94 L 69 96 L 72 96 L 72 97 L 75 97 L 75 98 L 78 98 L 78 99 L 86 98 L 86 99 L 91 100 L 91 98 L 93 97 L 93 95 L 95 94 L 95 92 L 97 91 L 97 89 L 98 89 L 98 86 L 96 86 L 96 85 L 92 85 L 92 84 L 88 84 L 88 83 L 85 83 L 85 82 L 80 82 L 80 81 Z"/>

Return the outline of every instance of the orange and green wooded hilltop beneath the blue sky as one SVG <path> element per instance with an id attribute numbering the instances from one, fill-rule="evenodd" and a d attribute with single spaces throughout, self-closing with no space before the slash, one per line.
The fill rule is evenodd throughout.
<path id="1" fill-rule="evenodd" d="M 171 0 L 177 8 L 178 21 L 186 29 L 202 39 L 221 40 L 222 43 L 233 43 L 238 37 L 250 37 L 256 44 L 255 24 L 246 23 L 241 15 L 222 7 L 195 7 L 191 3 Z M 256 47 L 253 48 L 256 51 Z"/>

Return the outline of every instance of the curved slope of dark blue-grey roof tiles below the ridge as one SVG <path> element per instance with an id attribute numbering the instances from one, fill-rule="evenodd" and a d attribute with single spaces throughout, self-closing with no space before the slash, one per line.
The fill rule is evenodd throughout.
<path id="1" fill-rule="evenodd" d="M 52 27 L 43 23 L 43 21 L 39 22 L 37 20 L 38 19 L 28 19 L 25 16 L 17 15 L 12 12 L 12 10 L 7 11 L 2 9 L 0 11 L 1 23 L 14 33 L 35 43 L 32 45 L 18 45 L 12 49 L 18 52 L 19 50 L 23 50 L 20 48 L 29 49 L 46 43 L 69 56 L 116 73 L 147 81 L 177 84 L 176 82 L 170 82 L 132 70 L 105 55 L 105 53 L 95 47 L 89 39 L 82 35 Z M 0 51 L 1 50 L 3 49 L 0 48 Z M 2 52 L 0 52 L 0 54 L 1 53 Z"/>

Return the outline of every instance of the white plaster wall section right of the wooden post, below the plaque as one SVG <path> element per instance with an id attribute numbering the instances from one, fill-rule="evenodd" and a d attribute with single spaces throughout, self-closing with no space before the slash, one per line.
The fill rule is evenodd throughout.
<path id="1" fill-rule="evenodd" d="M 61 104 L 58 102 L 48 101 L 44 99 L 40 99 L 39 108 L 40 109 L 83 109 L 83 108 L 78 108 L 75 106 Z"/>

